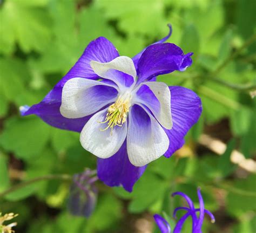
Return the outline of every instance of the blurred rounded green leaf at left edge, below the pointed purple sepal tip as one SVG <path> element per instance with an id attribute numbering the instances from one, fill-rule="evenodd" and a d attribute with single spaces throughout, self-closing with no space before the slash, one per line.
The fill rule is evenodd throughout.
<path id="1" fill-rule="evenodd" d="M 49 139 L 50 126 L 36 117 L 10 118 L 0 136 L 0 145 L 24 159 L 35 159 Z"/>

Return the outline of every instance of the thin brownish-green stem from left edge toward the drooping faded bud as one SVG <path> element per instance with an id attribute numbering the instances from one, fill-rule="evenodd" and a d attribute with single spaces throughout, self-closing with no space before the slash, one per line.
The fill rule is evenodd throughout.
<path id="1" fill-rule="evenodd" d="M 16 191 L 17 189 L 23 188 L 25 186 L 28 186 L 32 183 L 36 183 L 38 181 L 44 181 L 44 180 L 65 180 L 65 181 L 70 181 L 72 179 L 72 176 L 67 175 L 67 174 L 56 174 L 56 175 L 45 175 L 45 176 L 40 176 L 36 177 L 32 180 L 29 181 L 24 181 L 22 183 L 18 183 L 15 186 L 12 186 L 11 188 L 3 191 L 0 193 L 0 198 L 4 197 L 5 195 L 12 193 L 13 191 Z"/>

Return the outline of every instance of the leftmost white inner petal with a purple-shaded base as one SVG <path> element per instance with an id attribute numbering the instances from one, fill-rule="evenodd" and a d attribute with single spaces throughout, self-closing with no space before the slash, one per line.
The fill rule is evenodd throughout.
<path id="1" fill-rule="evenodd" d="M 110 90 L 103 93 L 103 91 L 98 90 L 100 85 Z M 112 87 L 100 81 L 72 78 L 63 87 L 60 113 L 65 118 L 72 119 L 95 113 L 116 100 L 118 92 Z"/>

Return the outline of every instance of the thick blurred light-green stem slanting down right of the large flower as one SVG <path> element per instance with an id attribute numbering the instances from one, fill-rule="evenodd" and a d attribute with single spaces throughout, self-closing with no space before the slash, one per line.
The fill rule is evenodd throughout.
<path id="1" fill-rule="evenodd" d="M 242 107 L 242 105 L 239 104 L 239 102 L 236 102 L 232 99 L 228 99 L 227 97 L 225 97 L 225 95 L 215 92 L 211 88 L 208 88 L 206 86 L 200 86 L 198 88 L 198 92 L 234 110 L 239 110 Z"/>

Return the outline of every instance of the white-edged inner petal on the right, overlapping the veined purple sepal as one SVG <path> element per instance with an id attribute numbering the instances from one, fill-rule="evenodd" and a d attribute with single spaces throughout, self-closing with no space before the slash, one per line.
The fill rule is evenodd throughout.
<path id="1" fill-rule="evenodd" d="M 154 105 L 154 102 L 150 99 L 143 99 L 143 93 L 141 95 L 137 95 L 135 102 L 137 101 L 146 105 L 163 127 L 166 129 L 171 129 L 171 92 L 169 87 L 165 83 L 153 81 L 145 82 L 143 85 L 147 85 L 150 88 L 150 90 L 157 97 L 159 101 L 157 104 L 159 105 Z"/>

